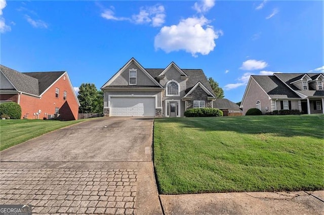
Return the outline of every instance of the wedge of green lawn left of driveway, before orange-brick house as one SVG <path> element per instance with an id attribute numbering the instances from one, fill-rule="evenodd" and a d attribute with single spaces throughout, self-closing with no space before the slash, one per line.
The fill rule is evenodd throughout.
<path id="1" fill-rule="evenodd" d="M 0 151 L 85 120 L 0 120 Z"/>

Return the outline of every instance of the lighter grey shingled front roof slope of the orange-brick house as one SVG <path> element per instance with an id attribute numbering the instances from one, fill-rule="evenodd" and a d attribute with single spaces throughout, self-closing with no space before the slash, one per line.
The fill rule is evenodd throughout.
<path id="1" fill-rule="evenodd" d="M 17 91 L 39 95 L 38 80 L 16 70 L 0 65 L 0 70 Z"/>

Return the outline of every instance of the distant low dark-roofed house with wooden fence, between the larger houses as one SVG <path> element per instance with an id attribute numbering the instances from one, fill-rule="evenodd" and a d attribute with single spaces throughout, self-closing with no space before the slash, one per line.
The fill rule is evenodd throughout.
<path id="1" fill-rule="evenodd" d="M 227 98 L 217 98 L 213 101 L 214 108 L 217 108 L 223 112 L 223 116 L 242 116 L 242 110 L 234 102 Z"/>

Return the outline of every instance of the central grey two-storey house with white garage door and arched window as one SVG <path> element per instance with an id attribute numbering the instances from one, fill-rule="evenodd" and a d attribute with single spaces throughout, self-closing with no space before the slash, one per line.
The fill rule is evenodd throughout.
<path id="1" fill-rule="evenodd" d="M 101 89 L 104 114 L 114 117 L 183 117 L 191 108 L 213 108 L 216 99 L 203 70 L 144 69 L 134 58 Z"/>

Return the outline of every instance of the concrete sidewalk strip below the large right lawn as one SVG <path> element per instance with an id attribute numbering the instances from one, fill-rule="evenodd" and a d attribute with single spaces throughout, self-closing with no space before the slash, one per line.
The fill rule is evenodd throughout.
<path id="1" fill-rule="evenodd" d="M 159 195 L 165 214 L 324 214 L 324 191 Z"/>

